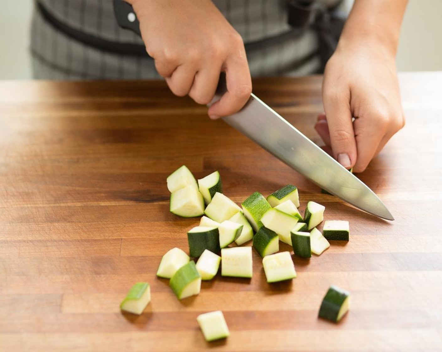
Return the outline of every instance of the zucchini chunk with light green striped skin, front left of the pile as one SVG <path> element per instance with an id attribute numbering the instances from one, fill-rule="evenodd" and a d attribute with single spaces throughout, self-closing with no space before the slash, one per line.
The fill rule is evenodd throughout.
<path id="1" fill-rule="evenodd" d="M 201 290 L 201 276 L 196 270 L 195 262 L 192 260 L 173 275 L 169 286 L 178 299 L 187 298 L 199 294 Z"/>

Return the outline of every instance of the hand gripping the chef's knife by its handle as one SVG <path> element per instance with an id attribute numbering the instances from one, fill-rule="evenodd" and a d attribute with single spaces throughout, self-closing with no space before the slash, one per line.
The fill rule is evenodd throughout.
<path id="1" fill-rule="evenodd" d="M 177 96 L 212 101 L 220 73 L 227 92 L 209 108 L 211 118 L 244 106 L 251 77 L 244 43 L 210 0 L 131 0 L 148 54 Z"/>

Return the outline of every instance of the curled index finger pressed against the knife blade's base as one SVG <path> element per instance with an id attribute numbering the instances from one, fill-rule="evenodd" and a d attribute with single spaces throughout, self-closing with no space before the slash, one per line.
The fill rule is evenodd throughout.
<path id="1" fill-rule="evenodd" d="M 227 58 L 225 75 L 227 92 L 209 108 L 209 116 L 212 119 L 238 112 L 251 94 L 250 70 L 245 53 L 230 55 Z"/>

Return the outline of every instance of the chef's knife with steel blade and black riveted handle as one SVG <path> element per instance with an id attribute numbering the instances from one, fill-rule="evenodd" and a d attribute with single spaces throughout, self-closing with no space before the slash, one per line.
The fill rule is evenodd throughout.
<path id="1" fill-rule="evenodd" d="M 140 35 L 139 23 L 130 4 L 114 0 L 114 10 L 121 27 Z M 225 77 L 221 75 L 218 99 L 225 91 Z M 369 187 L 255 94 L 251 94 L 239 112 L 225 116 L 223 120 L 329 193 L 367 213 L 394 220 Z"/>

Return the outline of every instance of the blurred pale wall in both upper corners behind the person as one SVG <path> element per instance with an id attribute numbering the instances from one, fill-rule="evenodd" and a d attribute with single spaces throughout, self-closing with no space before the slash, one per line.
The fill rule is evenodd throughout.
<path id="1" fill-rule="evenodd" d="M 0 0 L 0 79 L 31 78 L 28 38 L 32 7 L 32 0 Z M 441 13 L 442 0 L 409 0 L 397 54 L 398 71 L 442 70 Z"/>

